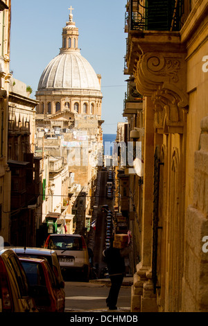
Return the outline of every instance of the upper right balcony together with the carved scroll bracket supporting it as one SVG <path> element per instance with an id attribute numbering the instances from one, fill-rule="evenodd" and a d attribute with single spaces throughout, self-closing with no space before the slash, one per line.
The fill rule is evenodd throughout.
<path id="1" fill-rule="evenodd" d="M 187 45 L 181 28 L 182 21 L 186 26 L 189 6 L 183 14 L 184 1 L 146 0 L 146 6 L 141 2 L 131 0 L 127 6 L 128 74 L 135 76 L 138 92 L 151 98 L 157 132 L 183 133 L 183 109 L 188 109 L 189 95 Z"/>

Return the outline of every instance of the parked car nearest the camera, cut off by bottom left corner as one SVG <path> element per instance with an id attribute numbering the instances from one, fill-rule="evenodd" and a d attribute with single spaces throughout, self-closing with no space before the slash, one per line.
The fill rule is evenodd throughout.
<path id="1" fill-rule="evenodd" d="M 0 312 L 37 311 L 24 268 L 13 250 L 0 250 Z"/>

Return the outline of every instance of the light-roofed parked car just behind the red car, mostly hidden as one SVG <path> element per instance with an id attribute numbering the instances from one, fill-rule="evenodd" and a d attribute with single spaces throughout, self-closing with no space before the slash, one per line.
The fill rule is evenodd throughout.
<path id="1" fill-rule="evenodd" d="M 17 256 L 19 257 L 32 257 L 32 258 L 44 258 L 49 261 L 49 265 L 51 266 L 51 269 L 53 273 L 55 274 L 55 277 L 57 279 L 57 282 L 60 286 L 60 289 L 62 291 L 62 295 L 65 295 L 64 292 L 64 279 L 62 277 L 62 272 L 60 269 L 60 264 L 58 261 L 57 254 L 55 250 L 49 250 L 45 248 L 28 248 L 28 247 L 10 247 L 12 250 L 15 251 Z"/>

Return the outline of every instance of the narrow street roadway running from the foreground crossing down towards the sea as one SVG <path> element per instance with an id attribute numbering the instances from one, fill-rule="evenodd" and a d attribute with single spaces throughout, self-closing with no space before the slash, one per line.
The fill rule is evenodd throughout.
<path id="1" fill-rule="evenodd" d="M 66 312 L 109 312 L 106 307 L 106 298 L 110 290 L 110 279 L 101 279 L 102 268 L 106 266 L 103 261 L 103 250 L 105 249 L 105 228 L 106 213 L 101 212 L 102 205 L 107 204 L 109 209 L 113 209 L 113 199 L 106 197 L 106 182 L 108 171 L 99 171 L 99 185 L 96 196 L 98 196 L 98 207 L 96 209 L 96 231 L 94 232 L 94 266 L 98 265 L 98 280 L 87 282 L 65 282 Z M 95 216 L 94 216 L 95 217 Z M 92 241 L 92 240 L 91 240 Z M 130 292 L 132 277 L 126 277 L 118 298 L 119 312 L 130 312 Z"/>

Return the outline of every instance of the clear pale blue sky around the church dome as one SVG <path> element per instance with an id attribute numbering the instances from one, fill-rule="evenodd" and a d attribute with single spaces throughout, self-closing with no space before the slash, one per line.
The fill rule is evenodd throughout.
<path id="1" fill-rule="evenodd" d="M 103 133 L 115 134 L 123 118 L 128 76 L 123 74 L 126 0 L 12 0 L 10 71 L 30 85 L 35 98 L 45 67 L 59 54 L 62 28 L 73 21 L 79 28 L 80 53 L 101 74 Z"/>

